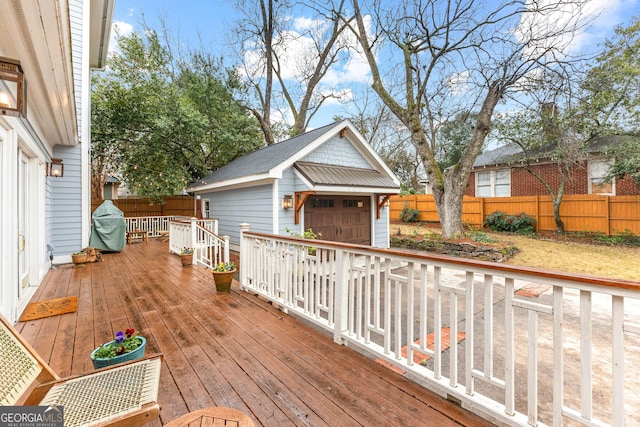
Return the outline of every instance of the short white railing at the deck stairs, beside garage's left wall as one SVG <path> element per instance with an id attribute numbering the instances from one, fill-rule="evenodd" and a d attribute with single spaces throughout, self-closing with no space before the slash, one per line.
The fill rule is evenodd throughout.
<path id="1" fill-rule="evenodd" d="M 190 218 L 169 222 L 169 252 L 193 248 L 193 262 L 212 268 L 229 261 L 229 236 L 218 236 L 217 219 Z"/>

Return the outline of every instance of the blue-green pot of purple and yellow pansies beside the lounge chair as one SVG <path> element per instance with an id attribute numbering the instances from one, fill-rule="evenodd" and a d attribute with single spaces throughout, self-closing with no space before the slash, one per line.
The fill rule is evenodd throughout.
<path id="1" fill-rule="evenodd" d="M 116 339 L 102 344 L 91 352 L 91 361 L 95 369 L 140 359 L 144 356 L 147 340 L 139 336 L 135 329 L 116 332 Z"/>

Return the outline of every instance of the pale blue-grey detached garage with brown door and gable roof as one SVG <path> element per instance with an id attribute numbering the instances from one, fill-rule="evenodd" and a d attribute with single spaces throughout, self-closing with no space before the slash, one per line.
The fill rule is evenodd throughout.
<path id="1" fill-rule="evenodd" d="M 240 157 L 188 189 L 237 249 L 238 224 L 389 247 L 388 197 L 400 182 L 349 120 Z M 289 231 L 287 231 L 289 230 Z"/>

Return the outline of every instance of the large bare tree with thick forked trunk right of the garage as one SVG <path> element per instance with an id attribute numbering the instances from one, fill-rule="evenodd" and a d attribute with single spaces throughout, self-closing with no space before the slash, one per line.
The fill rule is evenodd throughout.
<path id="1" fill-rule="evenodd" d="M 462 199 L 498 103 L 528 76 L 569 59 L 562 53 L 585 24 L 585 0 L 353 0 L 358 38 L 373 89 L 407 127 L 433 193 L 445 238 L 464 235 Z M 389 68 L 393 66 L 393 68 Z M 387 73 L 397 72 L 393 78 Z M 460 160 L 442 170 L 441 123 L 477 111 Z"/>

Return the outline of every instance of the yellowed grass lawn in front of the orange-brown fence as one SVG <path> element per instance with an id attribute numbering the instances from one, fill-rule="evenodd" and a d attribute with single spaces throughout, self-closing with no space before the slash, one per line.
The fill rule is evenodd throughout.
<path id="1" fill-rule="evenodd" d="M 391 235 L 425 236 L 440 233 L 439 228 L 392 223 Z M 532 237 L 487 232 L 497 241 L 511 242 L 520 252 L 506 264 L 539 267 L 546 270 L 640 281 L 640 246 L 589 243 L 578 236 L 562 238 L 553 234 Z"/>

